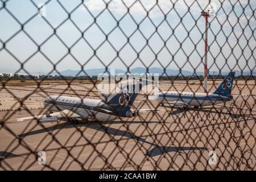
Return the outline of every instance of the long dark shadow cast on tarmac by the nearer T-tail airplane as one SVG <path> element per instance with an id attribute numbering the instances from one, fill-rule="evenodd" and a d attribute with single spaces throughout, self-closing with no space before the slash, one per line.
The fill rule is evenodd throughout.
<path id="1" fill-rule="evenodd" d="M 109 123 L 109 122 L 105 122 L 105 123 Z M 134 140 L 137 140 L 139 142 L 143 142 L 143 143 L 147 143 L 150 144 L 151 146 L 154 146 L 154 148 L 152 148 L 152 150 L 146 152 L 146 156 L 157 156 L 157 155 L 162 155 L 168 152 L 179 152 L 179 151 L 191 151 L 191 150 L 207 150 L 208 148 L 205 147 L 166 147 L 166 146 L 159 146 L 158 144 L 155 143 L 151 143 L 148 142 L 147 140 L 136 136 L 135 134 L 131 133 L 130 131 L 127 130 L 120 130 L 120 129 L 115 129 L 113 127 L 109 127 L 109 126 L 104 126 L 105 123 L 98 123 L 98 122 L 91 122 L 91 123 L 82 123 L 79 122 L 79 124 L 77 124 L 76 126 L 74 126 L 71 123 L 60 123 L 57 124 L 55 126 L 51 126 L 51 127 L 47 127 L 46 129 L 39 129 L 39 130 L 35 130 L 35 131 L 30 131 L 28 133 L 24 133 L 24 134 L 19 134 L 18 137 L 19 138 L 24 138 L 30 135 L 36 135 L 36 134 L 41 134 L 41 133 L 46 133 L 49 131 L 53 131 L 53 130 L 60 130 L 60 129 L 69 129 L 69 128 L 73 128 L 73 127 L 88 127 L 89 129 L 93 129 L 93 130 L 97 130 L 97 131 L 102 131 L 104 133 L 113 135 L 113 136 L 123 136 L 123 137 L 127 137 L 127 138 L 131 138 Z M 113 122 L 113 123 L 118 123 L 118 122 Z M 139 122 L 139 121 L 133 121 L 133 122 L 119 122 L 119 123 L 143 123 L 143 122 Z M 151 122 L 148 122 L 151 123 Z M 159 123 L 159 122 L 153 122 L 153 123 Z"/>

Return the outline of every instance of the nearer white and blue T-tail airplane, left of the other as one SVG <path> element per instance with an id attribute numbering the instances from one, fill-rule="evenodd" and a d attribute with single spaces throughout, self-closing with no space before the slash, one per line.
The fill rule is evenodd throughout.
<path id="1" fill-rule="evenodd" d="M 96 121 L 111 121 L 117 118 L 135 117 L 138 113 L 153 111 L 152 109 L 133 110 L 131 106 L 141 91 L 143 84 L 152 82 L 139 78 L 129 78 L 121 81 L 118 93 L 102 93 L 101 100 L 89 98 L 75 98 L 67 96 L 50 96 L 44 100 L 44 107 L 48 112 L 44 115 L 19 118 L 17 121 L 31 121 L 37 119 L 39 123 L 58 122 L 59 119 L 67 119 L 78 123 L 79 120 L 88 122 L 88 119 Z M 131 90 L 131 91 L 130 91 Z M 53 113 L 56 111 L 56 113 Z"/>

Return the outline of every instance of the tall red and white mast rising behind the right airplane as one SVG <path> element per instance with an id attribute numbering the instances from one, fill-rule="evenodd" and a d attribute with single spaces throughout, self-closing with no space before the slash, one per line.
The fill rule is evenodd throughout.
<path id="1" fill-rule="evenodd" d="M 208 76 L 208 67 L 207 67 L 207 52 L 208 52 L 208 44 L 207 44 L 207 40 L 208 40 L 208 18 L 209 18 L 209 10 L 206 11 L 202 11 L 201 12 L 201 16 L 204 16 L 205 18 L 205 47 L 204 47 L 204 92 L 207 93 L 207 76 Z"/>

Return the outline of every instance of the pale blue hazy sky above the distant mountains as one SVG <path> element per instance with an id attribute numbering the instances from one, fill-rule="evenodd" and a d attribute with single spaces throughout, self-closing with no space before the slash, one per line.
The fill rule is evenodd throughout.
<path id="1" fill-rule="evenodd" d="M 38 15 L 40 3 L 46 3 L 45 16 Z M 107 66 L 203 72 L 200 13 L 208 9 L 209 71 L 256 70 L 256 1 L 159 0 L 155 5 L 155 0 L 2 0 L 0 72 L 18 71 L 20 64 L 28 73 L 48 73 L 53 64 L 57 71 Z"/>

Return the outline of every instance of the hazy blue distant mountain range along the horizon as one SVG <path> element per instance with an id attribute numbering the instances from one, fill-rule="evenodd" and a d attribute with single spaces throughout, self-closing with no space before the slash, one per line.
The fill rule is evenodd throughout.
<path id="1" fill-rule="evenodd" d="M 81 72 L 81 70 L 72 70 L 72 69 L 67 69 L 65 71 L 61 71 L 60 74 L 63 76 L 76 76 L 76 75 L 89 75 L 89 76 L 97 76 L 100 75 L 102 73 L 105 73 L 107 75 L 109 75 L 109 73 L 112 74 L 112 72 L 114 71 L 115 75 L 120 74 L 120 73 L 137 73 L 137 74 L 143 74 L 147 72 L 146 68 L 142 68 L 142 67 L 137 67 L 137 68 L 133 68 L 130 69 L 130 72 L 127 72 L 123 69 L 111 69 L 108 68 L 108 72 L 106 72 L 105 68 L 96 68 L 96 69 L 85 69 L 83 72 Z M 0 73 L 14 73 L 15 71 L 12 71 L 10 69 L 0 69 Z M 226 75 L 229 71 L 224 71 L 221 72 L 222 75 Z M 19 74 L 23 74 L 24 72 L 19 72 Z M 85 74 L 86 73 L 86 74 Z M 164 72 L 163 68 L 149 68 L 148 69 L 148 73 L 151 74 L 155 74 L 158 73 L 159 76 L 176 76 L 176 75 L 180 75 L 180 71 L 179 70 L 175 70 L 175 69 L 166 69 L 166 71 Z M 36 73 L 31 73 L 31 75 L 47 75 L 48 73 L 43 73 L 43 72 L 36 72 Z M 186 71 L 186 70 L 181 70 L 181 74 L 188 76 L 188 75 L 193 75 L 192 71 Z M 210 75 L 218 75 L 218 72 L 213 72 L 210 71 L 209 72 Z M 236 73 L 236 75 L 240 75 L 241 72 Z M 243 75 L 250 75 L 250 71 L 244 71 Z M 57 72 L 52 72 L 51 75 L 59 75 Z M 204 72 L 196 72 L 196 75 L 204 75 Z M 253 75 L 256 75 L 256 71 L 253 72 Z"/>

